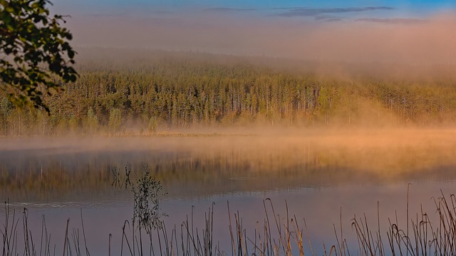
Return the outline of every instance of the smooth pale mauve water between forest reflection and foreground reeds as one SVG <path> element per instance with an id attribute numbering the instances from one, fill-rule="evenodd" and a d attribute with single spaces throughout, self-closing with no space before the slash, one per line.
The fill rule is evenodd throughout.
<path id="1" fill-rule="evenodd" d="M 454 191 L 454 182 L 415 182 L 410 185 L 410 217 L 415 218 L 421 208 L 425 212 L 435 213 L 435 205 L 431 196 L 440 195 L 440 189 L 445 195 Z M 388 227 L 388 218 L 397 218 L 398 222 L 405 227 L 407 207 L 407 184 L 396 183 L 393 185 L 338 185 L 323 188 L 296 188 L 292 190 L 269 190 L 257 192 L 229 193 L 225 195 L 212 195 L 207 198 L 171 199 L 162 202 L 162 210 L 167 213 L 163 217 L 168 232 L 177 228 L 180 230 L 182 222 L 191 218 L 199 232 L 204 228 L 204 214 L 214 203 L 214 240 L 218 241 L 221 250 L 231 252 L 229 240 L 229 215 L 227 202 L 233 214 L 242 217 L 243 228 L 247 230 L 247 236 L 254 237 L 254 229 L 262 225 L 265 218 L 264 200 L 270 198 L 274 204 L 276 214 L 281 223 L 286 222 L 288 215 L 296 218 L 300 226 L 306 229 L 311 240 L 312 250 L 317 255 L 323 255 L 323 242 L 326 246 L 336 244 L 334 228 L 339 229 L 342 225 L 343 234 L 351 252 L 355 253 L 358 245 L 355 232 L 351 226 L 353 217 L 368 218 L 369 225 L 377 225 L 377 206 L 380 205 L 380 225 L 383 232 Z M 286 200 L 286 202 L 285 202 Z M 72 203 L 49 203 L 52 207 L 43 204 L 17 204 L 13 203 L 20 213 L 26 206 L 29 213 L 29 228 L 34 230 L 37 236 L 41 233 L 41 216 L 46 216 L 46 225 L 53 234 L 52 241 L 58 246 L 63 245 L 63 234 L 66 229 L 66 221 L 70 220 L 70 230 L 81 231 L 81 213 L 88 237 L 88 249 L 92 255 L 107 255 L 109 234 L 111 238 L 111 250 L 120 252 L 122 225 L 125 220 L 130 220 L 133 215 L 133 205 L 128 202 L 72 202 Z M 270 209 L 266 201 L 266 208 Z M 193 211 L 193 213 L 192 213 Z M 3 215 L 3 211 L 1 211 Z M 271 215 L 269 215 L 271 217 Z M 435 217 L 433 218 L 435 220 Z M 274 227 L 274 222 L 271 223 Z M 307 237 L 305 237 L 307 239 Z M 253 240 L 253 238 L 252 238 Z M 155 240 L 157 242 L 157 240 Z M 310 251 L 308 242 L 304 246 L 306 254 Z M 57 247 L 57 252 L 62 248 Z M 125 251 L 124 251 L 125 252 Z"/>

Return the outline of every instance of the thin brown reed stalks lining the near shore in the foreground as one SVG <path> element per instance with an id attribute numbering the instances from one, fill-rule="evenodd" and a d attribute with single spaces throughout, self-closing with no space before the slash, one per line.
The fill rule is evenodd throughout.
<path id="1" fill-rule="evenodd" d="M 351 226 L 356 241 L 350 243 L 343 237 L 341 218 L 340 230 L 333 225 L 336 242 L 328 246 L 323 242 L 323 255 L 456 255 L 456 196 L 445 196 L 441 192 L 434 202 L 432 216 L 421 208 L 416 217 L 409 218 L 407 205 L 408 222 L 402 226 L 397 215 L 395 219 L 388 218 L 385 232 L 380 230 L 379 214 L 378 225 L 373 229 L 368 225 L 366 215 L 354 216 Z M 232 213 L 227 203 L 231 255 L 320 255 L 312 247 L 306 221 L 299 223 L 296 215 L 289 215 L 287 204 L 286 222 L 281 221 L 271 200 L 264 200 L 263 205 L 263 225 L 256 225 L 254 235 L 248 236 L 252 230 L 244 228 L 239 211 Z M 36 237 L 28 229 L 25 208 L 19 218 L 6 202 L 5 213 L 1 230 L 2 255 L 90 255 L 82 211 L 82 235 L 79 229 L 68 231 L 68 220 L 63 252 L 56 252 L 56 245 L 51 244 L 44 216 L 40 237 Z M 214 205 L 204 215 L 204 227 L 195 227 L 194 217 L 192 210 L 180 227 L 174 226 L 170 230 L 163 220 L 155 219 L 160 223 L 142 222 L 141 225 L 135 224 L 134 218 L 131 222 L 125 220 L 120 231 L 120 252 L 113 252 L 109 244 L 108 255 L 229 255 L 229 251 L 222 251 L 219 242 L 214 241 Z M 431 222 L 432 218 L 436 221 Z M 358 247 L 350 247 L 353 242 L 358 242 Z"/>

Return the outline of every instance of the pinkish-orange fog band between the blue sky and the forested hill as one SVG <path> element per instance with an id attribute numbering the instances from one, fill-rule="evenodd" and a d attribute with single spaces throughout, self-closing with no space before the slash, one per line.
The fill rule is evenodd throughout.
<path id="1" fill-rule="evenodd" d="M 456 59 L 456 19 L 452 14 L 380 19 L 361 13 L 350 20 L 326 16 L 310 20 L 227 12 L 73 15 L 68 27 L 77 46 L 416 65 L 448 64 Z"/>

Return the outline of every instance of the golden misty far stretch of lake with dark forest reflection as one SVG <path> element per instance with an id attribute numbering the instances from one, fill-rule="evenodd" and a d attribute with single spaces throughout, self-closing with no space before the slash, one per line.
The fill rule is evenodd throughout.
<path id="1" fill-rule="evenodd" d="M 128 198 L 113 168 L 150 166 L 167 197 L 456 178 L 454 130 L 318 130 L 188 137 L 11 138 L 0 195 L 12 202 Z M 247 134 L 247 135 L 245 135 Z M 89 196 L 89 197 L 88 197 Z"/>

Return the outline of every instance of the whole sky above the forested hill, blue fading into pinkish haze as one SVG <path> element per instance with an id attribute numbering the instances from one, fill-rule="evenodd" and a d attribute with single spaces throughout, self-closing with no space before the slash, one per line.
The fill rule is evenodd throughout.
<path id="1" fill-rule="evenodd" d="M 456 1 L 55 0 L 73 45 L 453 63 Z"/>

